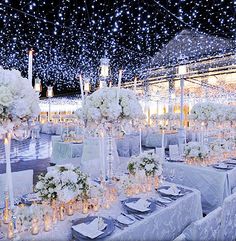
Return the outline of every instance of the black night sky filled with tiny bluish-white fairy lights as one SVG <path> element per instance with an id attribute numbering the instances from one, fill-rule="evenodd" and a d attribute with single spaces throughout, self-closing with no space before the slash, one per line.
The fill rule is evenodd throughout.
<path id="1" fill-rule="evenodd" d="M 0 65 L 34 77 L 56 93 L 79 91 L 76 73 L 97 83 L 107 50 L 111 79 L 124 80 L 183 29 L 235 38 L 233 0 L 0 0 Z"/>

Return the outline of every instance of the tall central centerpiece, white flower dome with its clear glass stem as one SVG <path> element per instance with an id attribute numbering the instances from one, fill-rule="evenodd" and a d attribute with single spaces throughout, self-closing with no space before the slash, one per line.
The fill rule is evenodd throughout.
<path id="1" fill-rule="evenodd" d="M 112 179 L 113 165 L 113 144 L 112 138 L 117 129 L 124 123 L 132 122 L 143 118 L 142 107 L 135 95 L 135 92 L 128 89 L 119 89 L 117 87 L 102 88 L 85 99 L 82 111 L 78 110 L 77 115 L 84 118 L 89 130 L 104 130 L 102 136 L 107 137 L 107 164 L 108 177 Z"/>

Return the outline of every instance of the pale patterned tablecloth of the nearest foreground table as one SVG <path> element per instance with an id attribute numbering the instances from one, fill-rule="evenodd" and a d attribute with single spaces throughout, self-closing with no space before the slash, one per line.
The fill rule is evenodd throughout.
<path id="1" fill-rule="evenodd" d="M 202 218 L 201 197 L 198 190 L 185 188 L 190 191 L 183 197 L 172 201 L 166 207 L 156 207 L 156 210 L 147 215 L 143 215 L 144 219 L 135 220 L 135 222 L 124 230 L 115 228 L 114 232 L 105 239 L 114 241 L 148 241 L 148 240 L 173 240 L 175 239 L 190 223 Z M 142 194 L 145 197 L 155 197 L 157 194 Z M 102 217 L 116 218 L 123 210 L 120 201 L 113 204 L 110 209 L 101 209 L 95 215 Z M 92 214 L 93 215 L 93 214 Z M 40 232 L 34 236 L 35 241 L 54 241 L 73 240 L 71 226 L 72 220 L 82 218 L 87 215 L 74 214 L 67 216 L 64 221 L 58 222 L 52 231 Z M 32 235 L 26 233 L 21 234 L 20 240 L 32 240 Z M 96 240 L 96 239 L 94 239 Z"/>

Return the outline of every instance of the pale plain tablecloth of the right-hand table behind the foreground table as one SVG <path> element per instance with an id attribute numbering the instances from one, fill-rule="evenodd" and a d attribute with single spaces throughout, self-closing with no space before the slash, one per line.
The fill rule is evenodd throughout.
<path id="1" fill-rule="evenodd" d="M 163 176 L 167 181 L 198 189 L 206 214 L 221 206 L 236 187 L 236 166 L 232 170 L 220 170 L 212 166 L 166 161 Z"/>

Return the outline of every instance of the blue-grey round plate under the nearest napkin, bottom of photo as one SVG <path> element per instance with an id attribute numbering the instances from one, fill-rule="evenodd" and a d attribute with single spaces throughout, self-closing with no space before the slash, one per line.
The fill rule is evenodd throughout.
<path id="1" fill-rule="evenodd" d="M 97 216 L 89 216 L 89 217 L 86 217 L 86 218 L 80 218 L 80 219 L 77 219 L 75 221 L 72 222 L 73 226 L 77 225 L 77 224 L 80 224 L 80 223 L 86 223 L 86 224 L 89 224 L 91 223 L 95 218 L 97 218 Z M 82 235 L 81 233 L 75 231 L 73 228 L 72 229 L 72 235 L 73 237 L 80 241 L 80 240 L 97 240 L 97 239 L 103 239 L 109 235 L 111 235 L 113 233 L 113 231 L 115 230 L 115 225 L 113 223 L 113 221 L 111 219 L 108 219 L 108 218 L 104 218 L 102 217 L 104 223 L 107 225 L 106 228 L 103 231 L 103 234 L 101 234 L 100 236 L 94 238 L 94 239 L 91 239 L 89 237 L 86 237 L 84 235 Z"/>

